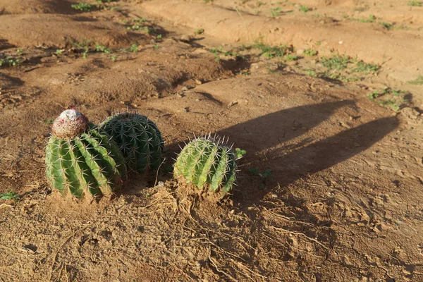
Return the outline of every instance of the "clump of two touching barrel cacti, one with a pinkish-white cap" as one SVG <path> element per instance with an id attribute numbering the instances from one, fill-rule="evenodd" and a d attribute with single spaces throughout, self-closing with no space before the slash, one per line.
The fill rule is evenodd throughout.
<path id="1" fill-rule="evenodd" d="M 127 166 L 142 172 L 161 161 L 161 133 L 145 116 L 120 114 L 97 126 L 71 109 L 56 118 L 51 131 L 46 173 L 63 195 L 111 195 L 122 185 Z"/>

